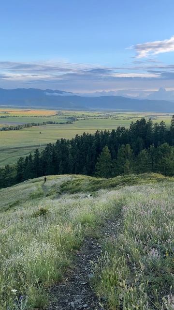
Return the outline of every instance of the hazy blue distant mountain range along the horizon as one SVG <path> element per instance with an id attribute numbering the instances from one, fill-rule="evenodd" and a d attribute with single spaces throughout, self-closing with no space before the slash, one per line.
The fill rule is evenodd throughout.
<path id="1" fill-rule="evenodd" d="M 161 91 L 160 91 L 161 92 Z M 156 92 L 159 94 L 159 92 Z M 156 94 L 157 95 L 157 94 Z M 124 109 L 149 112 L 174 112 L 174 102 L 168 100 L 135 99 L 117 95 L 90 97 L 59 90 L 2 89 L 0 106 L 51 108 L 51 109 Z M 150 100 L 149 100 L 150 99 Z"/>

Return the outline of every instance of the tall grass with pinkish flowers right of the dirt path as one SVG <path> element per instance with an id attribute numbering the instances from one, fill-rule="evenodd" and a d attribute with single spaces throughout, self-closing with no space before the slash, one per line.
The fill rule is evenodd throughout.
<path id="1" fill-rule="evenodd" d="M 126 188 L 122 223 L 105 241 L 95 289 L 110 310 L 174 309 L 173 185 Z"/>

